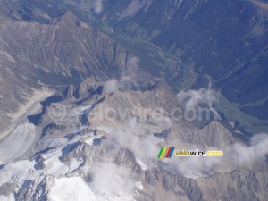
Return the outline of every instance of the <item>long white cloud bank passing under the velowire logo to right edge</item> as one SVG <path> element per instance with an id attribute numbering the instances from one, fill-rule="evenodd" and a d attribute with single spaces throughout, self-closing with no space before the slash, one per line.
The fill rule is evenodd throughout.
<path id="1" fill-rule="evenodd" d="M 159 121 L 160 122 L 160 121 Z M 143 121 L 137 121 L 136 117 L 124 121 L 124 125 L 116 130 L 109 132 L 110 139 L 115 139 L 121 147 L 126 147 L 148 168 L 161 165 L 162 168 L 189 177 L 200 177 L 214 172 L 230 172 L 236 168 L 253 168 L 257 161 L 264 161 L 265 155 L 268 155 L 268 135 L 259 134 L 251 138 L 249 146 L 236 143 L 224 152 L 223 156 L 185 156 L 178 157 L 173 155 L 170 159 L 157 159 L 160 151 L 159 144 L 163 139 L 155 138 L 150 132 L 145 133 L 145 125 Z M 169 126 L 168 121 L 165 122 Z M 113 143 L 114 141 L 106 141 Z M 173 141 L 174 142 L 174 141 Z M 175 142 L 174 142 L 175 143 Z M 175 144 L 180 144 L 180 141 Z M 176 147 L 176 149 L 187 148 L 195 150 L 202 147 L 197 145 L 188 145 L 188 147 Z M 207 147 L 206 150 L 219 150 L 217 147 Z"/>

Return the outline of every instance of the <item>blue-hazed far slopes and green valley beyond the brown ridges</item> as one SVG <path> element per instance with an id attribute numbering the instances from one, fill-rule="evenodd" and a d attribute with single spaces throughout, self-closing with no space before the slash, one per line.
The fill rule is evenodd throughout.
<path id="1" fill-rule="evenodd" d="M 222 119 L 236 121 L 247 136 L 267 131 L 265 1 L 21 0 L 2 5 L 5 18 L 42 24 L 71 11 L 138 56 L 145 71 L 174 91 L 212 82 L 222 95 L 224 108 L 217 108 Z"/>

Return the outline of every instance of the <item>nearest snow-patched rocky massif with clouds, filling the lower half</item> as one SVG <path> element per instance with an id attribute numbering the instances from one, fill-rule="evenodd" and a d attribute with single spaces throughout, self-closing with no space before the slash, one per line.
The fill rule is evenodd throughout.
<path id="1" fill-rule="evenodd" d="M 25 117 L 35 124 L 35 140 L 20 159 L 0 158 L 2 200 L 267 198 L 267 135 L 243 145 L 219 122 L 197 129 L 172 119 L 180 105 L 165 83 L 144 92 L 111 85 L 84 80 L 66 88 L 62 101 Z M 220 148 L 224 156 L 160 160 L 161 147 Z"/>

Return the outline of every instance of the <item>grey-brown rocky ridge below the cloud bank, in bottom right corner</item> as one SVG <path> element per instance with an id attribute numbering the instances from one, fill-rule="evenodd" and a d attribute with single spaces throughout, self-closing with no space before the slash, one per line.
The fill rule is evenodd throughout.
<path id="1" fill-rule="evenodd" d="M 249 170 L 235 170 L 229 173 L 217 173 L 208 178 L 196 180 L 164 173 L 159 169 L 145 172 L 147 193 L 152 189 L 148 200 L 265 200 L 267 174 Z M 155 189 L 156 190 L 153 190 Z M 154 194 L 153 194 L 154 192 Z M 148 193 L 150 194 L 150 193 Z"/>

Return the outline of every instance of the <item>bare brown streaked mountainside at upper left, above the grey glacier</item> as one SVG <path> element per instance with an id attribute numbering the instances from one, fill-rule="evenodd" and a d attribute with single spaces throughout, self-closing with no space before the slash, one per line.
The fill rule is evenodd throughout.
<path id="1" fill-rule="evenodd" d="M 6 114 L 18 112 L 19 105 L 44 86 L 78 85 L 87 77 L 109 80 L 129 76 L 145 87 L 151 82 L 135 55 L 72 13 L 50 24 L 6 21 L 0 27 L 0 106 L 4 113 L 0 130 L 10 124 Z"/>

